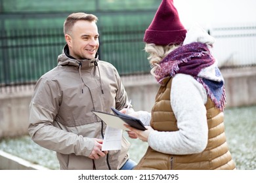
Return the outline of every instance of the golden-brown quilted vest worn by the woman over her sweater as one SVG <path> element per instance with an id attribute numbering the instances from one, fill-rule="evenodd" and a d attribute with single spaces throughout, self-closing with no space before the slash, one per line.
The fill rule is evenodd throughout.
<path id="1" fill-rule="evenodd" d="M 165 86 L 160 87 L 156 95 L 156 103 L 152 108 L 150 125 L 158 131 L 179 130 L 170 104 L 171 81 L 172 78 L 165 78 Z M 207 147 L 203 152 L 188 155 L 163 154 L 149 146 L 135 169 L 236 169 L 226 143 L 223 112 L 215 108 L 209 97 L 205 107 L 209 132 Z"/>

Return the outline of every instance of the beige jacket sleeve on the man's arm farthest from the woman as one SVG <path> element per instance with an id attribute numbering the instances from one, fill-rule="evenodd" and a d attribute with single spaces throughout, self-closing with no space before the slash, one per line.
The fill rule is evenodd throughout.
<path id="1" fill-rule="evenodd" d="M 93 150 L 94 139 L 64 131 L 53 125 L 61 98 L 56 82 L 45 78 L 38 80 L 30 103 L 28 132 L 34 142 L 49 150 L 89 156 Z"/>

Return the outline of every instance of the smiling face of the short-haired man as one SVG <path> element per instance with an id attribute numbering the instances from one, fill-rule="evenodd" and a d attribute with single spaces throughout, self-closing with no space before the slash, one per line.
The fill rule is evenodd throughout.
<path id="1" fill-rule="evenodd" d="M 65 35 L 70 56 L 76 59 L 94 59 L 98 50 L 98 27 L 95 22 L 75 22 L 70 35 Z"/>

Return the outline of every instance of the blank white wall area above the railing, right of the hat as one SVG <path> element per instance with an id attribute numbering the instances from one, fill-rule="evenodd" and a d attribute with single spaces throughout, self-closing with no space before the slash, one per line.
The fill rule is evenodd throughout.
<path id="1" fill-rule="evenodd" d="M 184 26 L 256 22 L 255 0 L 174 0 Z"/>

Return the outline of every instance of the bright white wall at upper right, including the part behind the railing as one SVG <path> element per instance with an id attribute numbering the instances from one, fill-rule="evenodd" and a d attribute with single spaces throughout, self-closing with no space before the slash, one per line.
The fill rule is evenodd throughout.
<path id="1" fill-rule="evenodd" d="M 216 39 L 213 52 L 219 61 L 219 67 L 225 64 L 256 64 L 256 29 L 251 28 L 256 27 L 255 0 L 174 0 L 174 3 L 186 29 L 193 24 L 199 24 L 212 30 L 211 35 Z M 249 28 L 215 31 L 216 27 Z"/>

